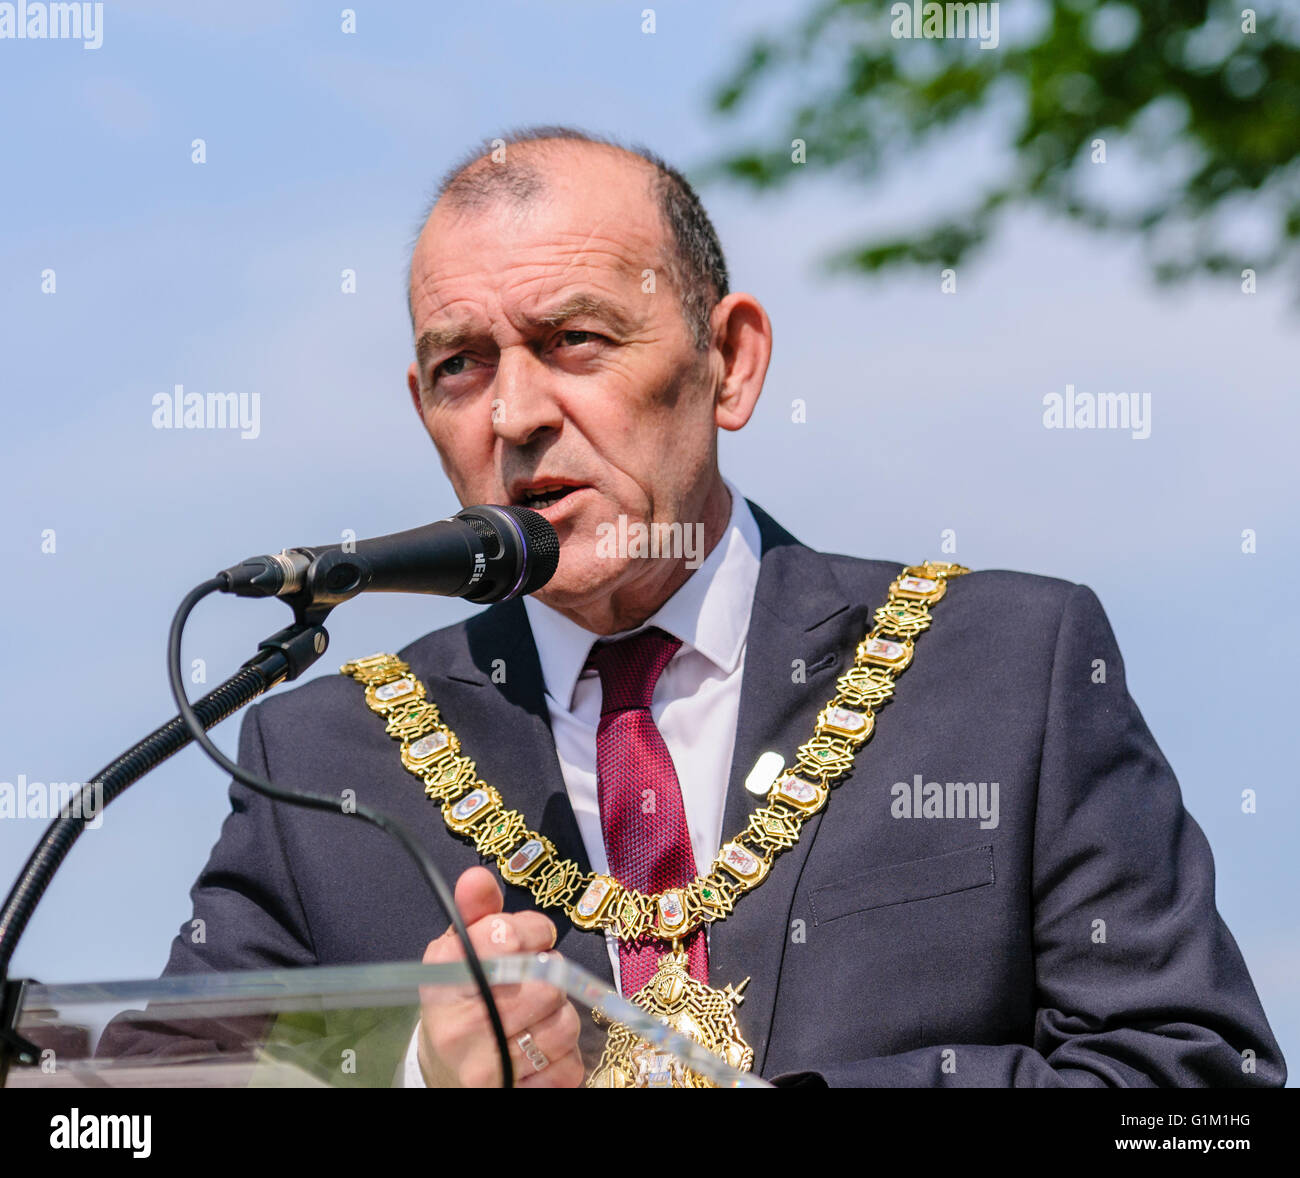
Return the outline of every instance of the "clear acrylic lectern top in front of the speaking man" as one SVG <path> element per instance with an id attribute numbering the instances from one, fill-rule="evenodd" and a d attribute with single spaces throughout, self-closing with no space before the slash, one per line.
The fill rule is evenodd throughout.
<path id="1" fill-rule="evenodd" d="M 610 1023 L 640 1036 L 632 1087 L 768 1087 L 624 1001 L 555 953 L 484 960 L 493 992 L 549 984 L 582 1017 L 588 1078 Z M 14 1030 L 39 1051 L 13 1065 L 20 1087 L 402 1087 L 421 999 L 477 995 L 463 963 L 347 965 L 146 982 L 27 984 Z M 474 997 L 474 1001 L 481 1001 Z M 507 1027 L 507 1031 L 510 1027 Z M 456 1087 L 448 1061 L 424 1079 Z M 516 1074 L 528 1074 L 526 1062 Z M 430 1074 L 432 1073 L 432 1074 Z"/>

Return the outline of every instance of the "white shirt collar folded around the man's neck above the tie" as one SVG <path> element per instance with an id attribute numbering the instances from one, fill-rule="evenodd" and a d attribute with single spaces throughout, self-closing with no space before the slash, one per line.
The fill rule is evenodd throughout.
<path id="1" fill-rule="evenodd" d="M 749 633 L 749 615 L 758 585 L 762 538 L 758 521 L 745 497 L 727 480 L 732 511 L 722 540 L 714 545 L 682 585 L 644 625 L 610 637 L 621 638 L 645 627 L 658 625 L 682 648 L 698 650 L 729 675 L 740 664 Z M 537 646 L 547 694 L 568 710 L 573 688 L 582 674 L 597 635 L 556 612 L 534 597 L 524 598 L 528 624 Z"/>

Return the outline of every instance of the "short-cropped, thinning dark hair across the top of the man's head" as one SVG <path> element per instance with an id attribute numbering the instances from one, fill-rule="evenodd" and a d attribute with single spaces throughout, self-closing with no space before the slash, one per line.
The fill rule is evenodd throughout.
<path id="1" fill-rule="evenodd" d="M 710 312 L 728 293 L 727 261 L 694 189 L 680 172 L 644 147 L 628 148 L 560 126 L 529 127 L 491 139 L 443 177 L 422 221 L 421 235 L 433 229 L 429 222 L 439 209 L 464 216 L 506 204 L 523 212 L 552 195 L 558 183 L 608 182 L 616 173 L 621 173 L 630 200 L 644 198 L 654 208 L 659 230 L 656 269 L 676 291 L 692 341 L 703 351 L 708 346 Z M 412 281 L 413 270 L 415 255 Z"/>

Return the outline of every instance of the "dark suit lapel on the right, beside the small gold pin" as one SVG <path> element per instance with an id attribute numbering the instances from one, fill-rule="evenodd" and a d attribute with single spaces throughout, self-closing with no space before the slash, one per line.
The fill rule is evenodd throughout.
<path id="1" fill-rule="evenodd" d="M 785 758 L 788 767 L 794 763 L 796 749 L 811 736 L 818 711 L 850 661 L 866 614 L 864 606 L 850 603 L 823 554 L 801 545 L 754 503 L 750 507 L 763 553 L 745 644 L 724 841 L 740 833 L 749 815 L 764 804 L 745 789 L 745 778 L 759 754 L 771 749 Z M 800 667 L 803 683 L 796 681 Z M 794 889 L 822 817 L 816 814 L 803 824 L 802 837 L 776 858 L 767 880 L 742 896 L 710 934 L 710 984 L 723 987 L 750 979 L 737 1019 L 754 1048 L 755 1071 L 763 1067 L 781 958 L 792 939 Z"/>

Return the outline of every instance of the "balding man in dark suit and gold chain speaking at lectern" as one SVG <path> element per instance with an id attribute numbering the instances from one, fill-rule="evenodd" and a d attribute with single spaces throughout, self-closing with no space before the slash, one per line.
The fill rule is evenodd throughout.
<path id="1" fill-rule="evenodd" d="M 482 954 L 554 948 L 629 996 L 658 992 L 672 969 L 714 991 L 748 978 L 737 1052 L 777 1083 L 1283 1082 L 1214 906 L 1209 846 L 1092 592 L 913 569 L 932 625 L 879 631 L 887 598 L 911 609 L 898 563 L 815 553 L 722 477 L 718 429 L 749 420 L 771 325 L 728 290 L 676 172 L 564 129 L 476 153 L 419 237 L 411 315 L 411 398 L 458 498 L 533 507 L 562 549 L 536 598 L 402 651 L 413 679 L 393 690 L 419 683 L 482 781 L 540 849 L 550 841 L 546 870 L 576 865 L 586 889 L 540 910 L 536 888 L 504 884 L 511 848 L 481 857 L 448 828 L 384 707 L 347 675 L 254 709 L 246 765 L 283 785 L 354 789 L 417 831 L 459 876 Z M 682 550 L 611 542 L 637 525 Z M 871 666 L 868 632 L 885 635 Z M 911 666 L 893 684 L 905 646 Z M 350 670 L 364 679 L 365 664 Z M 827 736 L 846 681 L 889 690 L 876 709 L 842 709 Z M 872 711 L 861 742 L 854 724 Z M 807 768 L 814 733 L 836 755 L 853 746 L 838 779 Z M 751 774 L 763 753 L 784 768 Z M 766 836 L 746 823 L 789 780 L 812 810 L 755 867 Z M 231 801 L 192 893 L 207 941 L 178 937 L 169 973 L 460 956 L 381 835 L 239 785 Z M 714 897 L 697 876 L 724 845 L 729 908 L 703 919 Z M 766 871 L 757 885 L 751 867 Z M 653 927 L 588 919 L 620 889 L 650 897 Z M 654 934 L 671 928 L 670 960 Z M 500 1012 L 520 1086 L 573 1086 L 595 1066 L 580 1045 L 589 1019 L 558 991 L 524 987 Z M 408 1083 L 438 1069 L 471 1084 L 498 1075 L 477 999 L 425 1002 Z"/>

